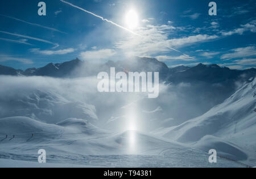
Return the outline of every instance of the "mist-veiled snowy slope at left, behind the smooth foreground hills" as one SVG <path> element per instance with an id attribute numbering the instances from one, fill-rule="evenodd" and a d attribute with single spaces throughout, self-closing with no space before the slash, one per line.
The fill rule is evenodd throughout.
<path id="1" fill-rule="evenodd" d="M 76 94 L 78 90 L 68 91 L 63 85 L 64 80 L 0 76 L 0 82 L 0 118 L 24 116 L 46 123 L 57 123 L 67 118 L 90 122 L 98 120 L 93 105 L 67 95 Z"/>

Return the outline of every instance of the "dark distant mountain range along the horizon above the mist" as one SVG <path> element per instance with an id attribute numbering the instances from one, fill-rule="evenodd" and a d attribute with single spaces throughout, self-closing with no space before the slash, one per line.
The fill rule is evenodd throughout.
<path id="1" fill-rule="evenodd" d="M 57 78 L 75 78 L 82 76 L 97 75 L 100 71 L 108 72 L 110 67 L 117 71 L 159 71 L 162 81 L 171 83 L 180 82 L 207 82 L 220 83 L 234 80 L 246 80 L 256 75 L 256 69 L 231 70 L 218 65 L 199 64 L 194 67 L 168 66 L 155 58 L 135 57 L 126 61 L 108 61 L 104 64 L 94 64 L 88 61 L 74 59 L 64 63 L 49 63 L 38 69 L 31 68 L 25 71 L 15 70 L 11 67 L 0 65 L 0 75 L 23 75 L 23 76 L 51 76 Z"/>

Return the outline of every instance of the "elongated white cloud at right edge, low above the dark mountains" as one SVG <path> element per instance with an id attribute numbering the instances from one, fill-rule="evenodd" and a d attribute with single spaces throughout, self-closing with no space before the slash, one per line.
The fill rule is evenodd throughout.
<path id="1" fill-rule="evenodd" d="M 233 59 L 256 56 L 255 46 L 247 46 L 245 48 L 237 48 L 232 50 L 233 53 L 224 54 L 221 59 Z"/>

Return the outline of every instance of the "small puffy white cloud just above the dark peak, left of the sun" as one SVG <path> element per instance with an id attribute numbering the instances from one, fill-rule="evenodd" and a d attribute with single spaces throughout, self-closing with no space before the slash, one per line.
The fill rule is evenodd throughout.
<path id="1" fill-rule="evenodd" d="M 101 60 L 108 59 L 116 54 L 113 49 L 101 49 L 101 50 L 92 50 L 80 53 L 80 58 L 84 60 Z"/>

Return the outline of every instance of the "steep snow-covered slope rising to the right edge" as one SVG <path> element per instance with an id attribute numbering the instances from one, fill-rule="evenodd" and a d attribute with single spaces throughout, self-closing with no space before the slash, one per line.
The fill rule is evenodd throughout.
<path id="1" fill-rule="evenodd" d="M 234 160 L 256 160 L 256 78 L 203 116 L 171 127 L 163 135 Z M 214 137 L 213 137 L 214 136 Z M 226 142 L 228 141 L 228 142 Z"/>

